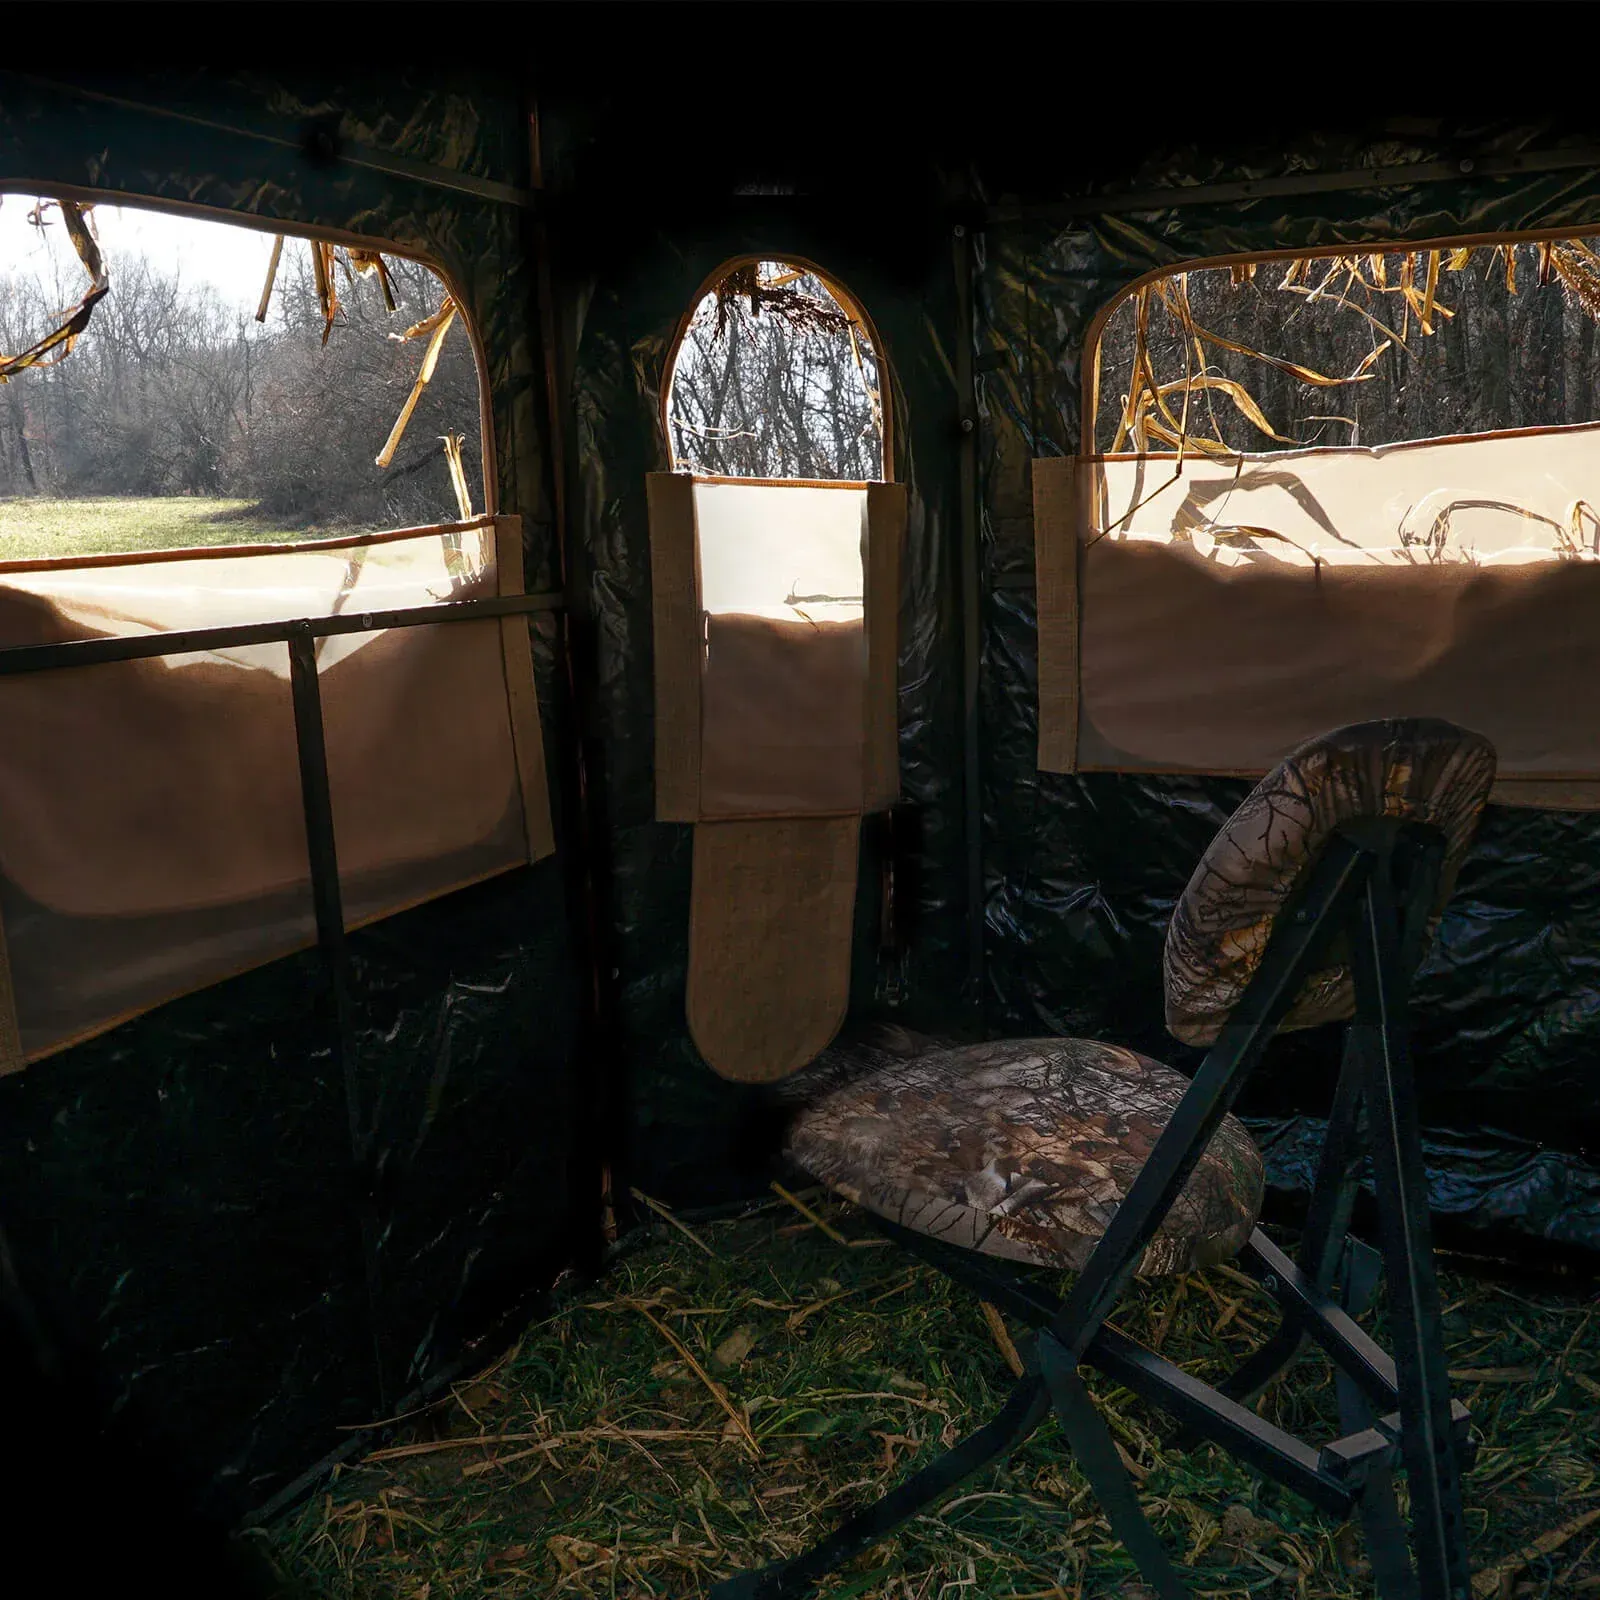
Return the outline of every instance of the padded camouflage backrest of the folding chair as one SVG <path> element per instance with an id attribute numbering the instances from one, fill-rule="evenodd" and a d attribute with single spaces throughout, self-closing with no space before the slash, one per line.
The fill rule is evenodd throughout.
<path id="1" fill-rule="evenodd" d="M 1171 1034 L 1189 1045 L 1218 1037 L 1285 902 L 1341 824 L 1394 818 L 1443 834 L 1430 939 L 1493 782 L 1488 739 L 1426 717 L 1355 723 L 1291 750 L 1222 824 L 1173 912 L 1163 962 Z M 1280 1027 L 1342 1021 L 1352 1010 L 1354 984 L 1336 946 Z"/>

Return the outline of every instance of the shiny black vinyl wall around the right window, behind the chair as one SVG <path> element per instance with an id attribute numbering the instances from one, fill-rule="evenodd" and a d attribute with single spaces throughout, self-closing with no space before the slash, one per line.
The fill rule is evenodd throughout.
<path id="1" fill-rule="evenodd" d="M 1547 138 L 1485 131 L 1514 154 Z M 1426 141 L 1310 141 L 1240 166 L 1197 152 L 1125 190 L 1288 171 L 1438 162 Z M 1037 194 L 1006 194 L 997 211 Z M 1334 243 L 1445 240 L 1600 222 L 1590 168 L 1413 187 L 997 221 L 978 270 L 984 640 L 986 1024 L 1112 1038 L 1179 1067 L 1162 1029 L 1166 920 L 1248 786 L 1038 773 L 1032 544 L 1035 456 L 1078 450 L 1085 336 L 1155 267 Z M 1491 806 L 1414 995 L 1414 1051 L 1440 1237 L 1470 1250 L 1600 1251 L 1600 816 Z M 1302 1194 L 1336 1030 L 1286 1035 L 1245 1109 L 1280 1195 Z"/>

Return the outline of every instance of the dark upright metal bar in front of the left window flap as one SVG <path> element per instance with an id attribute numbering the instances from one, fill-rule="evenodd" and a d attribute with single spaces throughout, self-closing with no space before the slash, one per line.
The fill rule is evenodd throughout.
<path id="1" fill-rule="evenodd" d="M 350 1165 L 355 1178 L 362 1232 L 366 1317 L 376 1363 L 378 1397 L 389 1411 L 390 1390 L 382 1350 L 382 1283 L 378 1259 L 378 1197 L 373 1192 L 371 1130 L 357 1080 L 355 1016 L 350 1003 L 350 952 L 344 939 L 344 901 L 339 893 L 339 853 L 333 832 L 328 789 L 328 747 L 322 723 L 322 685 L 317 680 L 317 640 L 310 622 L 290 629 L 290 688 L 294 699 L 294 741 L 299 747 L 301 802 L 306 810 L 306 848 L 310 856 L 310 894 L 333 1010 L 333 1064 L 344 1080 Z"/>

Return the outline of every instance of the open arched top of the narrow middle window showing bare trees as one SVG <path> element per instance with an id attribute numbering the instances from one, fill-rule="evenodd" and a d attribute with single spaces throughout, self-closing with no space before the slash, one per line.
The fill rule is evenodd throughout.
<path id="1" fill-rule="evenodd" d="M 730 478 L 883 478 L 880 373 L 866 315 L 840 285 L 784 261 L 728 267 L 672 363 L 672 466 Z"/>

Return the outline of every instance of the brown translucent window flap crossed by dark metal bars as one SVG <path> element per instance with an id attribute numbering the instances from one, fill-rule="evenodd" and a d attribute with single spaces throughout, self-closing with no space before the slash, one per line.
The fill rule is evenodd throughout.
<path id="1" fill-rule="evenodd" d="M 464 600 L 515 592 L 512 565 L 486 523 L 32 563 L 0 570 L 0 643 Z M 531 662 L 518 709 L 499 622 L 330 637 L 318 669 L 349 925 L 546 853 Z M 312 941 L 285 645 L 0 678 L 0 739 L 18 1059 Z"/>

